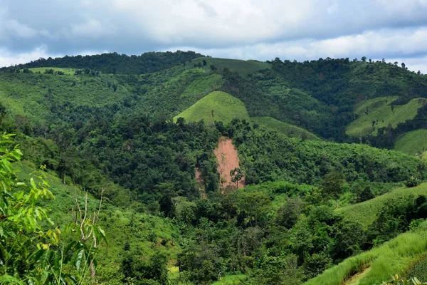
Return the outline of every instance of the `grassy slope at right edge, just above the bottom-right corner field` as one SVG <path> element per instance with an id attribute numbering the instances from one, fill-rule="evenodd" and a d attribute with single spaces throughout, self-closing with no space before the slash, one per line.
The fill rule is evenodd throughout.
<path id="1" fill-rule="evenodd" d="M 374 222 L 381 211 L 381 207 L 391 199 L 406 198 L 409 196 L 427 195 L 427 183 L 417 187 L 400 187 L 374 199 L 367 200 L 359 204 L 352 204 L 347 207 L 337 209 L 344 214 L 344 217 L 354 222 L 359 222 L 366 229 Z"/>

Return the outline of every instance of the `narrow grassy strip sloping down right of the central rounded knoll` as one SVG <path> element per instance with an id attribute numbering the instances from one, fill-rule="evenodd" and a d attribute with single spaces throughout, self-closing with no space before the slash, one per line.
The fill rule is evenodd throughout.
<path id="1" fill-rule="evenodd" d="M 277 130 L 279 133 L 288 135 L 288 137 L 293 137 L 293 138 L 305 137 L 307 138 L 307 140 L 320 140 L 319 137 L 310 133 L 308 130 L 304 130 L 303 128 L 299 128 L 295 125 L 284 123 L 280 120 L 276 120 L 275 118 L 254 117 L 254 118 L 251 118 L 251 120 L 253 121 L 253 123 L 257 123 L 258 125 L 263 125 L 265 128 Z"/>

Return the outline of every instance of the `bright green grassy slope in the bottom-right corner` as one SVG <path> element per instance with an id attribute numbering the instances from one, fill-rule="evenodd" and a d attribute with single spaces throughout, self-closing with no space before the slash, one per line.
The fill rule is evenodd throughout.
<path id="1" fill-rule="evenodd" d="M 412 264 L 421 259 L 427 250 L 427 222 L 423 222 L 415 232 L 400 234 L 395 239 L 381 244 L 369 252 L 349 257 L 342 263 L 327 269 L 305 285 L 372 285 L 390 279 L 391 275 L 404 274 Z M 369 267 L 369 271 L 364 269 Z M 364 272 L 352 278 L 354 275 Z"/>

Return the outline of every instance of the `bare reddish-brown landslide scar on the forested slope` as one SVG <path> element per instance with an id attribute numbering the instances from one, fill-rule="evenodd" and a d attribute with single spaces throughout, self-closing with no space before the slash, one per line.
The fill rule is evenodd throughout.
<path id="1" fill-rule="evenodd" d="M 221 176 L 220 182 L 221 187 L 227 187 L 228 185 L 236 186 L 236 183 L 231 182 L 230 171 L 236 167 L 240 167 L 238 153 L 234 148 L 233 141 L 230 138 L 221 137 L 218 142 L 218 148 L 214 150 L 216 160 L 218 160 L 218 173 Z M 245 187 L 245 177 L 238 182 L 238 187 Z"/>

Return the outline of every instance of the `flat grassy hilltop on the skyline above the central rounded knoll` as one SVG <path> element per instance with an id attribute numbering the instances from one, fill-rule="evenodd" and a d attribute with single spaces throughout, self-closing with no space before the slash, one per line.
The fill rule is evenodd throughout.
<path id="1" fill-rule="evenodd" d="M 239 59 L 228 59 L 228 58 L 194 58 L 189 63 L 186 63 L 186 68 L 194 68 L 194 64 L 199 64 L 203 66 L 203 61 L 206 61 L 206 66 L 204 66 L 205 71 L 210 71 L 211 66 L 215 66 L 219 70 L 223 68 L 228 68 L 231 71 L 236 71 L 241 74 L 241 76 L 247 76 L 248 74 L 255 73 L 263 69 L 271 68 L 269 63 L 264 63 L 260 61 L 241 61 Z"/>

